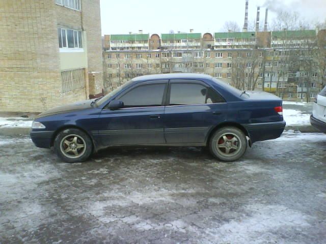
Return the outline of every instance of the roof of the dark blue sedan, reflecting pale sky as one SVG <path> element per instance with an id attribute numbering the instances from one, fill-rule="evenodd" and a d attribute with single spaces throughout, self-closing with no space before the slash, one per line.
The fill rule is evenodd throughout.
<path id="1" fill-rule="evenodd" d="M 194 73 L 174 73 L 174 74 L 157 74 L 157 75 L 143 75 L 133 78 L 133 81 L 148 81 L 148 80 L 158 80 L 158 79 L 209 79 L 212 77 L 204 74 L 194 74 Z"/>

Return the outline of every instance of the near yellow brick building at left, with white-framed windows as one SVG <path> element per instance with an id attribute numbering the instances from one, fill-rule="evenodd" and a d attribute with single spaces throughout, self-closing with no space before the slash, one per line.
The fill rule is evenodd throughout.
<path id="1" fill-rule="evenodd" d="M 102 93 L 99 2 L 0 1 L 0 111 L 40 112 Z"/>

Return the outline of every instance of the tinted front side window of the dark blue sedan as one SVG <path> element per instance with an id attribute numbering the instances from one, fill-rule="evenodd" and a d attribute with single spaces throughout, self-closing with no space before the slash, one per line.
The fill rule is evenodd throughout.
<path id="1" fill-rule="evenodd" d="M 161 106 L 166 84 L 140 85 L 122 95 L 124 107 Z"/>

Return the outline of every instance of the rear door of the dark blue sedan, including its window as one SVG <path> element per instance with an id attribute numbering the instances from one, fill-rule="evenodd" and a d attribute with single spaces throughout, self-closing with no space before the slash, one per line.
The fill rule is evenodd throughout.
<path id="1" fill-rule="evenodd" d="M 212 127 L 223 121 L 227 104 L 199 80 L 170 80 L 164 124 L 168 144 L 204 144 Z"/>

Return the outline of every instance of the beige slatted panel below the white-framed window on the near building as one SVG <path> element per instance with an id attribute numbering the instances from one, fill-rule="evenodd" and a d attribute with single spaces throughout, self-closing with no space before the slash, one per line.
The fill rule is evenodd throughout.
<path id="1" fill-rule="evenodd" d="M 85 69 L 61 72 L 62 94 L 85 88 Z"/>

